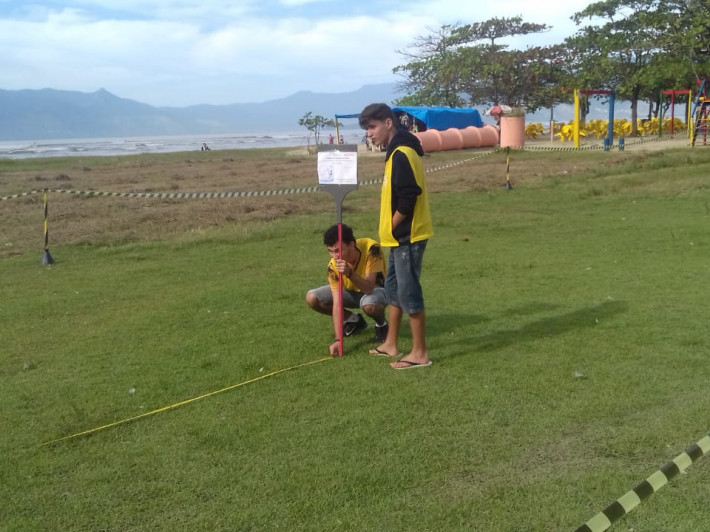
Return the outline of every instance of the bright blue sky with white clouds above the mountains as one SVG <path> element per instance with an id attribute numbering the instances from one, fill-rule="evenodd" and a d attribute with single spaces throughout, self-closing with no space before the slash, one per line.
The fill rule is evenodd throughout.
<path id="1" fill-rule="evenodd" d="M 521 15 L 561 42 L 591 0 L 0 0 L 0 89 L 104 88 L 155 106 L 263 102 L 398 80 L 397 50 Z"/>

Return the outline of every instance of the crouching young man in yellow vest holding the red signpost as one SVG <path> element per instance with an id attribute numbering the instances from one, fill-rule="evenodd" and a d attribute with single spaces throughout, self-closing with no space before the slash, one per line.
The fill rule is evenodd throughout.
<path id="1" fill-rule="evenodd" d="M 361 308 L 365 314 L 375 320 L 375 341 L 384 342 L 387 337 L 385 320 L 385 261 L 376 241 L 371 238 L 358 238 L 353 230 L 342 225 L 343 249 L 338 259 L 338 226 L 329 227 L 323 234 L 323 243 L 330 253 L 328 263 L 328 284 L 314 288 L 306 293 L 306 303 L 313 310 L 333 317 L 335 341 L 328 351 L 338 354 L 340 320 L 340 291 L 338 274 L 343 279 L 343 334 L 352 336 L 367 327 L 367 321 L 361 314 L 345 309 Z"/>

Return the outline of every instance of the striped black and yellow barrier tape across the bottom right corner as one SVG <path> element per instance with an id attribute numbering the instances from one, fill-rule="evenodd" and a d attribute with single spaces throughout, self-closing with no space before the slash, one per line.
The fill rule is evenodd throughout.
<path id="1" fill-rule="evenodd" d="M 634 489 L 615 500 L 604 510 L 577 528 L 576 532 L 602 532 L 608 529 L 612 523 L 618 521 L 636 508 L 642 500 L 653 495 L 672 478 L 684 472 L 693 462 L 709 452 L 710 434 L 688 447 L 685 452 L 676 456 L 653 475 L 640 482 Z"/>

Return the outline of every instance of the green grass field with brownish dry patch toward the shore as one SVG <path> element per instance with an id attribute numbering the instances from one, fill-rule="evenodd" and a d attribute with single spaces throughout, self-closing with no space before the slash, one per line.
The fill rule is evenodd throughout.
<path id="1" fill-rule="evenodd" d="M 268 156 L 3 164 L 0 195 L 61 175 L 118 191 L 314 179 L 312 159 Z M 238 157 L 254 179 L 269 171 L 240 182 Z M 382 160 L 362 164 L 361 179 L 377 177 Z M 284 178 L 292 167 L 304 170 Z M 41 198 L 0 202 L 0 528 L 587 521 L 710 429 L 710 149 L 514 152 L 510 191 L 504 167 L 495 155 L 428 174 L 434 364 L 404 372 L 367 354 L 372 326 L 346 340 L 345 357 L 326 357 L 328 318 L 303 300 L 325 279 L 321 234 L 334 215 L 322 194 L 54 195 L 50 267 L 39 263 Z M 378 193 L 346 199 L 357 234 L 375 234 Z M 706 530 L 709 499 L 705 457 L 615 529 Z"/>

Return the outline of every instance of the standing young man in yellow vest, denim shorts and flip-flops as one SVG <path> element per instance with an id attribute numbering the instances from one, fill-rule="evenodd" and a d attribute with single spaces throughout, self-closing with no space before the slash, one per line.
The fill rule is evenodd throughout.
<path id="1" fill-rule="evenodd" d="M 390 366 L 394 369 L 431 365 L 426 348 L 424 296 L 419 282 L 422 258 L 434 234 L 419 139 L 398 129 L 399 121 L 383 103 L 360 113 L 360 127 L 375 146 L 385 146 L 385 173 L 380 197 L 380 244 L 389 247 L 385 297 L 390 306 L 389 332 L 373 355 L 399 356 L 397 341 L 404 313 L 409 315 L 412 350 Z"/>

